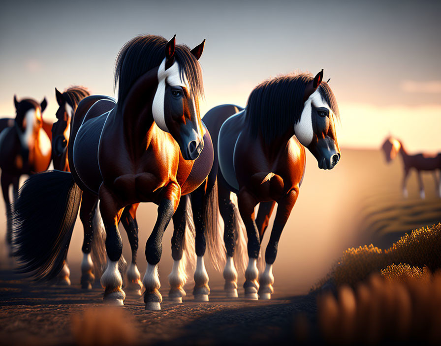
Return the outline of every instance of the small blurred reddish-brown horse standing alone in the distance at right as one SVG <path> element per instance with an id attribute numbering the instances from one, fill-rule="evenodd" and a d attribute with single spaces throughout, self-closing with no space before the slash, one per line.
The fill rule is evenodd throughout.
<path id="1" fill-rule="evenodd" d="M 409 155 L 407 150 L 404 148 L 402 142 L 399 140 L 388 137 L 384 141 L 381 149 L 384 152 L 386 162 L 390 163 L 398 155 L 401 154 L 403 159 L 403 196 L 408 197 L 408 189 L 406 187 L 407 178 L 410 173 L 410 169 L 415 169 L 418 175 L 419 183 L 419 195 L 422 199 L 426 198 L 426 193 L 424 192 L 423 180 L 421 178 L 421 171 L 433 171 L 433 176 L 435 179 L 435 189 L 438 197 L 441 197 L 441 177 L 437 176 L 437 171 L 441 172 L 441 153 L 437 155 L 429 155 L 425 153 L 419 153 L 415 155 Z"/>

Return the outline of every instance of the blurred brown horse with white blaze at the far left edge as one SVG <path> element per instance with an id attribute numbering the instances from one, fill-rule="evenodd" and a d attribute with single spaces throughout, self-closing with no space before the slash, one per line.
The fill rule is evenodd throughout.
<path id="1" fill-rule="evenodd" d="M 43 130 L 42 119 L 46 98 L 38 104 L 32 99 L 19 102 L 14 96 L 14 105 L 17 115 L 15 119 L 2 120 L 5 128 L 0 133 L 1 188 L 6 206 L 8 244 L 11 244 L 9 186 L 13 185 L 15 199 L 20 176 L 45 171 L 51 162 L 51 142 Z"/>

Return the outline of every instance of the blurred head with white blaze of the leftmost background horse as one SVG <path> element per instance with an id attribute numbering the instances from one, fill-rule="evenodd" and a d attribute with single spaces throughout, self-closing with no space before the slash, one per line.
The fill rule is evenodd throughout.
<path id="1" fill-rule="evenodd" d="M 44 98 L 40 104 L 32 99 L 23 99 L 19 102 L 14 95 L 14 105 L 16 109 L 14 126 L 20 141 L 23 163 L 27 163 L 38 131 L 43 125 L 42 113 L 46 109 L 47 101 Z"/>

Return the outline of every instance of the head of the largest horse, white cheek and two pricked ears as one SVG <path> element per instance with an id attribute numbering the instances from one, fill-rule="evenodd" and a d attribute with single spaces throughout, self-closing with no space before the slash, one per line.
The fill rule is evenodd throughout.
<path id="1" fill-rule="evenodd" d="M 183 158 L 195 160 L 204 146 L 199 103 L 176 59 L 175 36 L 165 46 L 165 58 L 158 68 L 152 113 L 158 127 L 179 144 Z M 205 40 L 190 51 L 195 60 L 202 55 L 204 44 Z"/>

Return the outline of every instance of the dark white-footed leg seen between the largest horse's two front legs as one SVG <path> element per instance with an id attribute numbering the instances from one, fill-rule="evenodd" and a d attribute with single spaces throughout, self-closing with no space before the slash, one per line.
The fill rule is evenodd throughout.
<path id="1" fill-rule="evenodd" d="M 136 266 L 138 252 L 138 222 L 136 221 L 136 209 L 139 203 L 127 205 L 121 216 L 121 223 L 127 232 L 128 242 L 132 252 L 132 262 L 127 268 L 127 289 L 137 295 L 141 295 L 141 274 Z"/>

